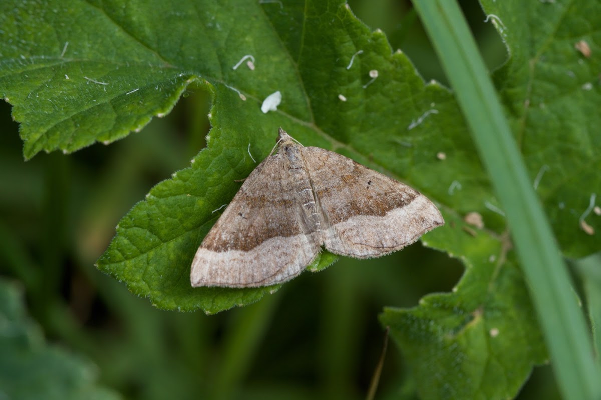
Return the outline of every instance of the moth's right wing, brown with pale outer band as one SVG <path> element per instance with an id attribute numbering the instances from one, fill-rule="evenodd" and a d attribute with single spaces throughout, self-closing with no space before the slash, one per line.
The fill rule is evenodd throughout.
<path id="1" fill-rule="evenodd" d="M 325 149 L 307 147 L 302 154 L 331 252 L 377 257 L 444 224 L 432 201 L 401 182 Z"/>

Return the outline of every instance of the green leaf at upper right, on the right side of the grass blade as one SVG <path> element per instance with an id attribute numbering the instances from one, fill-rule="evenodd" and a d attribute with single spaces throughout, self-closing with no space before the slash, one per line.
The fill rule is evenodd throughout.
<path id="1" fill-rule="evenodd" d="M 601 218 L 580 218 L 601 193 L 601 3 L 482 1 L 510 58 L 495 71 L 514 137 L 565 255 L 601 249 Z M 592 56 L 576 49 L 585 41 Z M 540 179 L 537 179 L 537 176 Z"/>

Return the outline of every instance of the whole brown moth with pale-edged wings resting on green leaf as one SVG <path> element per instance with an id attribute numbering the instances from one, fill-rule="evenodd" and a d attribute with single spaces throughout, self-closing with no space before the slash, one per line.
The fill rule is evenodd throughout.
<path id="1" fill-rule="evenodd" d="M 350 158 L 304 147 L 282 128 L 276 147 L 204 238 L 192 286 L 278 284 L 299 275 L 322 246 L 379 257 L 444 224 L 426 196 Z"/>

